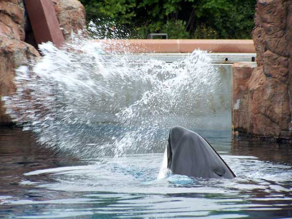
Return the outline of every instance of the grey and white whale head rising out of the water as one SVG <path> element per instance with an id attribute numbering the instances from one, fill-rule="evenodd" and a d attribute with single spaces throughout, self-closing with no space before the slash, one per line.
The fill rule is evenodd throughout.
<path id="1" fill-rule="evenodd" d="M 158 179 L 172 174 L 198 178 L 233 179 L 231 168 L 200 134 L 176 126 L 170 128 Z"/>

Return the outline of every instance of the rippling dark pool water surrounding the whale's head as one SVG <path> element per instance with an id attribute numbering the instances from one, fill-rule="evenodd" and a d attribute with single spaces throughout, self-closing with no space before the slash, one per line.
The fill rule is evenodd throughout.
<path id="1" fill-rule="evenodd" d="M 157 180 L 163 148 L 77 159 L 38 145 L 30 131 L 0 127 L 0 218 L 292 218 L 291 145 L 198 132 L 237 178 Z"/>

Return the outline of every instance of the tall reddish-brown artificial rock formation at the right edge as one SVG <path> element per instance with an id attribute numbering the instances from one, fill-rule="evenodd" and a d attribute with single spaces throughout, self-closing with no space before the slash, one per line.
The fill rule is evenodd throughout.
<path id="1" fill-rule="evenodd" d="M 242 85 L 246 93 L 240 98 L 233 98 L 235 134 L 273 139 L 292 138 L 291 28 L 292 1 L 257 1 L 253 30 L 257 67 Z M 237 73 L 234 67 L 234 78 Z M 237 84 L 233 87 L 234 93 L 237 93 Z M 241 103 L 238 104 L 238 101 Z M 244 119 L 239 122 L 236 115 Z"/>

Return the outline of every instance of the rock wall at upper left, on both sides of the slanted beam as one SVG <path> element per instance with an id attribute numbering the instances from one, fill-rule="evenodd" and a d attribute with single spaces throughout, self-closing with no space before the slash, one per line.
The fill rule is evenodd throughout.
<path id="1" fill-rule="evenodd" d="M 53 3 L 66 39 L 71 30 L 77 33 L 85 26 L 85 10 L 78 0 L 53 0 Z M 35 40 L 25 14 L 23 0 L 0 0 L 0 97 L 15 91 L 15 69 L 39 56 L 32 46 Z M 3 104 L 0 101 L 0 125 L 12 124 Z"/>

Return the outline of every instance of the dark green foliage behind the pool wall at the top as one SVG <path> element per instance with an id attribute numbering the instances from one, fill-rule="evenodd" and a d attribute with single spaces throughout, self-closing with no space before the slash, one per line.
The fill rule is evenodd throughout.
<path id="1" fill-rule="evenodd" d="M 112 19 L 131 38 L 251 38 L 256 0 L 81 0 L 89 20 Z M 100 20 L 100 19 L 99 19 Z"/>

